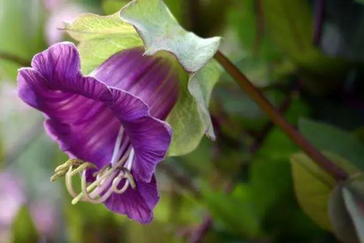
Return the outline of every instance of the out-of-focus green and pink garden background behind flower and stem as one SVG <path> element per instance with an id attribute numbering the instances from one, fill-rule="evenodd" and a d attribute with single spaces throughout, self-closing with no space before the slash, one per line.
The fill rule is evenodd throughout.
<path id="1" fill-rule="evenodd" d="M 148 226 L 79 203 L 50 182 L 67 160 L 42 116 L 16 94 L 17 69 L 52 43 L 62 21 L 108 15 L 121 0 L 0 0 L 0 243 L 337 242 L 300 208 L 290 154 L 299 149 L 223 74 L 211 115 L 217 141 L 157 167 L 161 201 Z M 364 7 L 354 0 L 165 0 L 296 125 L 300 117 L 363 140 Z M 324 13 L 324 14 L 323 14 Z M 58 29 L 57 29 L 58 28 Z"/>

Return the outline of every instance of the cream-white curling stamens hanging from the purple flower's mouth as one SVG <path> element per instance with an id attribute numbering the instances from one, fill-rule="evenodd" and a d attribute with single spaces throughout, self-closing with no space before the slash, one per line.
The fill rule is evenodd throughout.
<path id="1" fill-rule="evenodd" d="M 68 172 L 65 174 L 65 180 L 67 190 L 74 197 L 72 204 L 77 204 L 79 201 L 85 201 L 94 204 L 103 203 L 107 200 L 107 198 L 110 197 L 112 193 L 121 194 L 124 193 L 129 186 L 131 186 L 133 189 L 136 187 L 130 173 L 134 161 L 134 149 L 130 147 L 126 149 L 126 143 L 120 147 L 123 133 L 124 128 L 121 127 L 112 154 L 110 168 L 100 170 L 96 175 L 96 180 L 88 186 L 86 181 L 86 170 L 83 170 L 81 175 L 82 192 L 79 194 L 75 192 L 72 186 L 72 174 L 75 173 L 73 173 L 74 170 L 72 165 L 70 166 Z M 117 163 L 115 163 L 117 158 L 120 158 L 123 151 L 125 151 L 125 155 Z M 121 189 L 118 189 L 118 185 L 123 179 L 126 179 L 125 184 Z"/>

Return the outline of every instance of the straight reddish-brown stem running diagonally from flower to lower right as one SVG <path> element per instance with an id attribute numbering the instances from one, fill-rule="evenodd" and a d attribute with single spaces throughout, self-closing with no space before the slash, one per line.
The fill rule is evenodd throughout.
<path id="1" fill-rule="evenodd" d="M 310 144 L 262 95 L 262 93 L 239 71 L 235 65 L 221 52 L 215 54 L 215 59 L 222 65 L 225 71 L 234 78 L 243 89 L 262 109 L 262 111 L 283 130 L 286 136 L 297 144 L 313 161 L 328 172 L 337 181 L 347 179 L 348 175 L 332 161 L 328 160 L 319 150 Z"/>

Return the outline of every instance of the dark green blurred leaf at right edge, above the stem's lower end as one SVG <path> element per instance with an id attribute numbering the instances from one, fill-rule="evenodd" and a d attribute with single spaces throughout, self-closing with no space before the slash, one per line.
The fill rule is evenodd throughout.
<path id="1" fill-rule="evenodd" d="M 357 169 L 364 170 L 364 146 L 349 132 L 309 119 L 300 119 L 298 126 L 302 135 L 315 147 L 332 151 Z"/>

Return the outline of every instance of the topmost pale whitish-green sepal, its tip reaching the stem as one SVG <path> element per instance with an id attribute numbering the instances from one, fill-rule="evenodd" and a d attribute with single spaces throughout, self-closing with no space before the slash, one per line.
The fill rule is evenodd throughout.
<path id="1" fill-rule="evenodd" d="M 220 37 L 204 39 L 182 28 L 162 0 L 131 1 L 121 9 L 120 17 L 138 30 L 145 54 L 171 52 L 187 72 L 201 69 L 220 45 Z"/>

